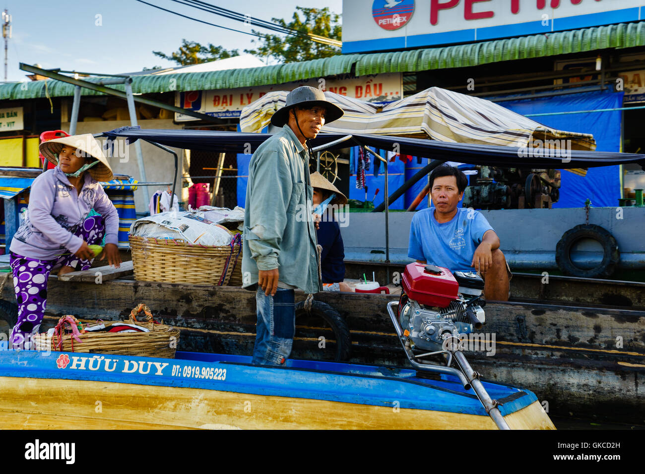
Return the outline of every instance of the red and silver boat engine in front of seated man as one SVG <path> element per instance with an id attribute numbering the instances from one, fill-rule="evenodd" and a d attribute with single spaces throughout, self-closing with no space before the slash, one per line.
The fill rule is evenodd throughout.
<path id="1" fill-rule="evenodd" d="M 479 330 L 485 322 L 484 281 L 475 273 L 453 275 L 448 268 L 411 263 L 402 286 L 399 323 L 413 350 L 442 350 L 446 339 Z"/>

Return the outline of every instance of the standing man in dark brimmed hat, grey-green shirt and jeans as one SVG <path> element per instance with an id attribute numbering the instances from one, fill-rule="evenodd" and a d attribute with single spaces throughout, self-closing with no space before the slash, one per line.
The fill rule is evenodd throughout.
<path id="1" fill-rule="evenodd" d="M 253 364 L 284 364 L 295 333 L 293 290 L 320 291 L 306 143 L 342 114 L 321 90 L 296 88 L 271 117 L 282 130 L 251 158 L 242 272 L 244 288 L 257 286 Z"/>

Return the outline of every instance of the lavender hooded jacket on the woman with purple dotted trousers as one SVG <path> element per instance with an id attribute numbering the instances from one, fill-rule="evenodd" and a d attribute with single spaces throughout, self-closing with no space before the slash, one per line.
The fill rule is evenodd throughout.
<path id="1" fill-rule="evenodd" d="M 84 173 L 80 197 L 56 166 L 34 179 L 25 219 L 11 241 L 11 252 L 38 260 L 55 260 L 63 249 L 75 253 L 83 239 L 74 232 L 92 208 L 105 222 L 105 242 L 117 244 L 119 215 L 103 186 Z"/>

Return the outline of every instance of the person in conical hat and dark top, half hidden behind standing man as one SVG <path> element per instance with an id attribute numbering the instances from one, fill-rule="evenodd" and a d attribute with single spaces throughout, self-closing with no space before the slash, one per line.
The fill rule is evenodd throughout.
<path id="1" fill-rule="evenodd" d="M 345 278 L 345 248 L 342 243 L 341 227 L 334 210 L 347 204 L 347 198 L 321 173 L 311 174 L 313 188 L 313 213 L 317 220 L 318 244 L 321 252 L 321 275 L 324 291 L 352 291 L 343 282 Z"/>

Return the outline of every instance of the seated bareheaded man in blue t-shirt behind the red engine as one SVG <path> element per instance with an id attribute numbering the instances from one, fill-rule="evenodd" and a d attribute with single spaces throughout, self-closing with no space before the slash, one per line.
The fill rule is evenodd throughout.
<path id="1" fill-rule="evenodd" d="M 435 206 L 412 217 L 408 257 L 451 272 L 479 270 L 486 299 L 508 301 L 511 273 L 499 237 L 481 212 L 457 208 L 467 185 L 466 175 L 453 166 L 437 166 L 430 174 Z"/>

